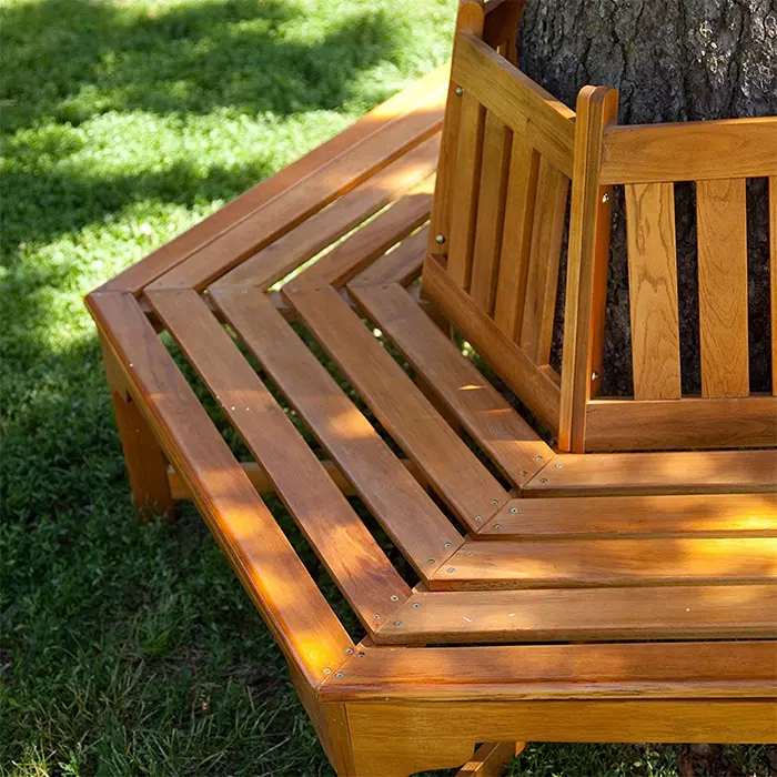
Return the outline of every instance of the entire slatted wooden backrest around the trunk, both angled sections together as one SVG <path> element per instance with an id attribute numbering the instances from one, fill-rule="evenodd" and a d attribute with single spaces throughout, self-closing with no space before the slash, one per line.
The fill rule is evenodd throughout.
<path id="1" fill-rule="evenodd" d="M 463 0 L 425 296 L 562 451 L 774 445 L 777 400 L 749 391 L 745 183 L 771 179 L 774 353 L 777 118 L 618 127 L 616 90 L 586 87 L 572 111 L 486 44 L 483 30 L 483 4 Z M 696 182 L 699 331 L 690 336 L 700 341 L 700 396 L 680 390 L 677 181 Z M 597 390 L 614 185 L 625 188 L 634 396 L 608 400 Z M 559 373 L 549 361 L 567 212 Z"/>

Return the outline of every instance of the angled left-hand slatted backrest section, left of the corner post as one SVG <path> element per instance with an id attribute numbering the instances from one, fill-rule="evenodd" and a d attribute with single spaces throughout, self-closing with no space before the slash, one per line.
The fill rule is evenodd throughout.
<path id="1" fill-rule="evenodd" d="M 574 147 L 571 109 L 481 39 L 460 7 L 424 294 L 554 432 L 549 366 Z"/>

